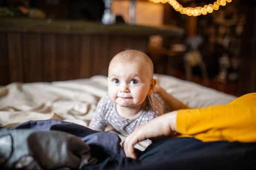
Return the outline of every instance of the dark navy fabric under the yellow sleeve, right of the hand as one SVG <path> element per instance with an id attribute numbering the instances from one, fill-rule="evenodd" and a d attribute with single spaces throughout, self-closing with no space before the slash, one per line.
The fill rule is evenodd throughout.
<path id="1" fill-rule="evenodd" d="M 149 146 L 133 170 L 256 170 L 256 143 L 172 138 Z"/>

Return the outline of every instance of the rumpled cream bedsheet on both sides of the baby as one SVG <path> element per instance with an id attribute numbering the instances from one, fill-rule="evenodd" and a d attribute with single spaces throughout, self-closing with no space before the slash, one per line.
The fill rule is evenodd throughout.
<path id="1" fill-rule="evenodd" d="M 171 76 L 154 76 L 169 94 L 191 108 L 227 104 L 236 99 Z M 12 83 L 0 88 L 0 125 L 13 127 L 29 120 L 59 119 L 87 126 L 98 100 L 107 93 L 108 80 L 104 76 L 52 83 Z M 146 145 L 144 142 L 137 148 L 143 150 Z"/>

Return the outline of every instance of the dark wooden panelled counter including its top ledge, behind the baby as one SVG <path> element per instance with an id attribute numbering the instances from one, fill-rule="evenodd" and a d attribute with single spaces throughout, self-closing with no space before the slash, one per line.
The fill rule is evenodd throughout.
<path id="1" fill-rule="evenodd" d="M 111 58 L 125 49 L 148 51 L 148 37 L 180 37 L 175 27 L 5 19 L 0 21 L 0 85 L 107 75 Z"/>

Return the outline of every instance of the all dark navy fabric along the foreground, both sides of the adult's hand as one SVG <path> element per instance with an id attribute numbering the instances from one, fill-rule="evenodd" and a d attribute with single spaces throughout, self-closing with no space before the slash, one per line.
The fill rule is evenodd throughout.
<path id="1" fill-rule="evenodd" d="M 256 169 L 256 143 L 201 142 L 193 138 L 171 138 L 151 144 L 138 161 L 125 157 L 115 133 L 98 132 L 59 120 L 29 121 L 14 129 L 59 130 L 78 136 L 91 148 L 95 165 L 81 169 Z M 139 151 L 138 151 L 139 152 Z"/>

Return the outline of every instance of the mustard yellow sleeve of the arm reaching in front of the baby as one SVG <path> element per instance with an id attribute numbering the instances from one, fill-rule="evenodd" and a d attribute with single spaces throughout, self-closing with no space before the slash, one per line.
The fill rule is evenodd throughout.
<path id="1" fill-rule="evenodd" d="M 240 102 L 228 105 L 180 110 L 177 113 L 177 132 L 180 137 L 194 137 L 204 142 L 256 142 L 256 100 L 244 105 L 251 97 L 243 96 L 236 99 Z"/>

